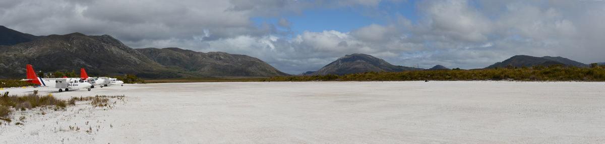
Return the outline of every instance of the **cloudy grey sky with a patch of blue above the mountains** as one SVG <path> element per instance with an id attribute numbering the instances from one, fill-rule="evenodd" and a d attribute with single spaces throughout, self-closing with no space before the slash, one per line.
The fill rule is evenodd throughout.
<path id="1" fill-rule="evenodd" d="M 355 53 L 425 69 L 483 68 L 514 55 L 605 62 L 605 1 L 2 0 L 0 25 L 249 55 L 289 74 Z"/>

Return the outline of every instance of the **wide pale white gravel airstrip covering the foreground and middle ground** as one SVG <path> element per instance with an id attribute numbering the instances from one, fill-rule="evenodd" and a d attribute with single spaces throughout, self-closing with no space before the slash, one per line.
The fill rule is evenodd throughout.
<path id="1" fill-rule="evenodd" d="M 2 121 L 0 143 L 605 143 L 605 83 L 597 82 L 162 83 L 0 93 L 33 90 L 126 98 L 111 99 L 111 108 L 79 102 L 16 111 L 10 125 Z M 15 125 L 20 116 L 24 125 Z"/>

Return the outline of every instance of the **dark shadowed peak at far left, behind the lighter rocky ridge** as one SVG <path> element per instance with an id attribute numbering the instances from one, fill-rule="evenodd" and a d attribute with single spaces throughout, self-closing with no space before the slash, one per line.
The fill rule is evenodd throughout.
<path id="1" fill-rule="evenodd" d="M 33 36 L 31 34 L 21 33 L 0 25 L 0 45 L 16 45 L 24 42 L 31 42 L 44 36 Z"/>

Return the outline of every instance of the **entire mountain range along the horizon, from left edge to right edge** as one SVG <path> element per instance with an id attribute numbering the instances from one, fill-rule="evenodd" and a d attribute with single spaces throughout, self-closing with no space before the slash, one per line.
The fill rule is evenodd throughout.
<path id="1" fill-rule="evenodd" d="M 226 52 L 195 52 L 180 48 L 133 49 L 109 35 L 87 36 L 80 33 L 34 36 L 0 26 L 0 78 L 22 78 L 25 64 L 34 70 L 54 72 L 87 69 L 88 74 L 135 74 L 143 78 L 175 77 L 288 77 L 270 64 L 247 55 Z M 511 66 L 549 66 L 563 64 L 586 67 L 587 64 L 564 57 L 515 55 L 484 69 Z M 599 63 L 605 64 L 605 63 Z M 428 70 L 449 69 L 436 65 Z M 395 66 L 367 54 L 338 58 L 316 71 L 299 75 L 346 75 L 363 72 L 401 72 L 425 70 Z"/>

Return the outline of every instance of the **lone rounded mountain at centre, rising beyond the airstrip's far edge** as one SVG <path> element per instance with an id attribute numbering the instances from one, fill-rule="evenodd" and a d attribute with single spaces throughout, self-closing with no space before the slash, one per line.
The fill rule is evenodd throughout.
<path id="1" fill-rule="evenodd" d="M 367 54 L 351 54 L 338 58 L 338 60 L 321 67 L 321 69 L 309 75 L 347 75 L 363 72 L 401 72 L 424 70 L 407 66 L 394 66 L 381 58 L 372 57 Z"/>

